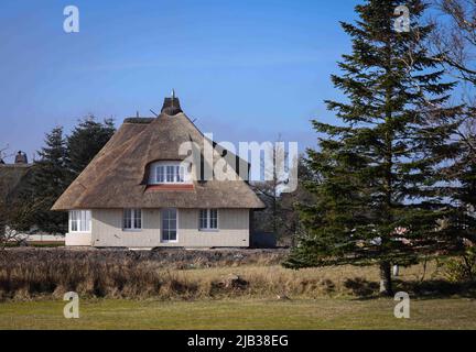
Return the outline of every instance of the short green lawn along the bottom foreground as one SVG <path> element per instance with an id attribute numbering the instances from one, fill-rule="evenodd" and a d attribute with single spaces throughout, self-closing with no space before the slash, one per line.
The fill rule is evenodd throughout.
<path id="1" fill-rule="evenodd" d="M 63 301 L 0 304 L 0 329 L 476 329 L 476 300 L 411 301 L 393 317 L 391 299 L 88 300 L 65 319 Z"/>

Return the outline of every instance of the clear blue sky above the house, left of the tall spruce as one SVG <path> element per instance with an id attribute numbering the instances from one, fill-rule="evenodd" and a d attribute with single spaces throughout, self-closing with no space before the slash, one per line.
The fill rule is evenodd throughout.
<path id="1" fill-rule="evenodd" d="M 150 116 L 172 88 L 217 141 L 315 145 L 310 120 L 334 120 L 323 100 L 340 97 L 329 75 L 350 50 L 338 21 L 357 2 L 2 0 L 0 148 L 31 157 L 88 113 Z M 79 33 L 63 31 L 68 4 Z"/>

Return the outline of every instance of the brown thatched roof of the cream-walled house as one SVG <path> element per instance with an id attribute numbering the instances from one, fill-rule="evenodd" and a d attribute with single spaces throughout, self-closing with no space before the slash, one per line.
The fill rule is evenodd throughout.
<path id="1" fill-rule="evenodd" d="M 178 146 L 183 142 L 193 141 L 202 151 L 204 143 L 215 145 L 209 140 L 204 142 L 204 135 L 182 112 L 180 105 L 171 108 L 170 103 L 165 100 L 158 118 L 126 119 L 112 139 L 60 197 L 53 210 L 263 208 L 262 201 L 242 180 L 194 182 L 191 188 L 148 186 L 148 165 L 156 161 L 184 160 L 178 155 Z M 223 152 L 219 146 L 215 147 L 215 157 Z M 230 155 L 228 153 L 227 157 Z M 249 167 L 242 160 L 237 160 L 238 167 Z"/>

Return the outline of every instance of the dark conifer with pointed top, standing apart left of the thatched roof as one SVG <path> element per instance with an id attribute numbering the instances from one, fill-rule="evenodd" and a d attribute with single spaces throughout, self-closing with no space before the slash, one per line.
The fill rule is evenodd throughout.
<path id="1" fill-rule="evenodd" d="M 33 222 L 41 231 L 66 233 L 67 216 L 51 210 L 68 186 L 67 151 L 63 128 L 54 128 L 47 133 L 45 144 L 39 152 L 40 160 L 33 165 L 31 185 L 22 198 L 30 202 Z"/>

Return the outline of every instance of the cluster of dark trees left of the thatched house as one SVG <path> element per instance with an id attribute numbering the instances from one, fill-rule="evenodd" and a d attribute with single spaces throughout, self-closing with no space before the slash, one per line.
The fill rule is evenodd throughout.
<path id="1" fill-rule="evenodd" d="M 44 146 L 37 152 L 21 189 L 0 200 L 3 232 L 35 231 L 64 234 L 67 215 L 51 211 L 52 206 L 83 172 L 115 133 L 112 119 L 98 121 L 94 116 L 79 120 L 69 135 L 62 127 L 46 133 Z M 7 227 L 6 227 L 7 226 Z M 3 233 L 6 237 L 8 233 Z"/>

